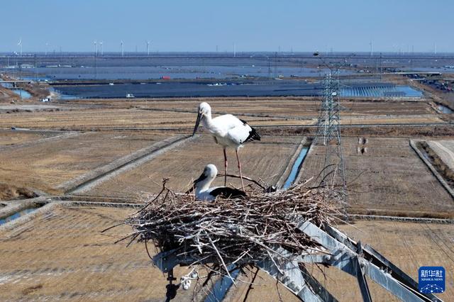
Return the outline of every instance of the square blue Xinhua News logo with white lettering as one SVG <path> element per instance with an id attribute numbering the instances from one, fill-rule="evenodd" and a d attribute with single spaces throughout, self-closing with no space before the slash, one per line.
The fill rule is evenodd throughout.
<path id="1" fill-rule="evenodd" d="M 444 267 L 420 267 L 418 276 L 420 293 L 443 293 L 445 291 Z"/>

